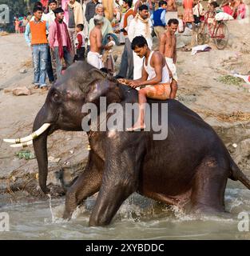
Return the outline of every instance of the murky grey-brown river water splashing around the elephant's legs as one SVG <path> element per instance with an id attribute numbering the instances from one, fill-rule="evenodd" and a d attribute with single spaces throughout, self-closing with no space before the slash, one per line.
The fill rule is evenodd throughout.
<path id="1" fill-rule="evenodd" d="M 239 182 L 227 186 L 226 216 L 197 218 L 133 194 L 111 225 L 89 227 L 94 202 L 88 198 L 69 222 L 62 220 L 64 198 L 2 206 L 0 213 L 10 216 L 10 231 L 0 232 L 0 239 L 250 239 L 250 232 L 238 230 L 238 214 L 245 211 L 250 217 L 250 191 Z"/>

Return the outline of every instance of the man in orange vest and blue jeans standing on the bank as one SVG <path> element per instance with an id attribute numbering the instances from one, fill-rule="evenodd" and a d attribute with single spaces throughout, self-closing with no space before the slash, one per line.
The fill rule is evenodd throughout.
<path id="1" fill-rule="evenodd" d="M 34 63 L 34 85 L 35 88 L 48 90 L 46 85 L 46 62 L 48 58 L 48 40 L 46 30 L 49 24 L 42 21 L 42 8 L 34 7 L 34 21 L 26 26 L 25 38 L 28 46 L 31 47 Z M 31 34 L 31 40 L 29 35 Z"/>

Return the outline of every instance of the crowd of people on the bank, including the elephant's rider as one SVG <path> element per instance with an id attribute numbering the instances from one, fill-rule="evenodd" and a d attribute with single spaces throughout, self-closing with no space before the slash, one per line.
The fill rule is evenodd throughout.
<path id="1" fill-rule="evenodd" d="M 217 0 L 220 1 L 220 0 Z M 234 18 L 244 18 L 242 0 L 220 2 L 221 9 Z M 208 11 L 199 0 L 183 0 L 178 13 L 175 0 L 48 0 L 36 2 L 33 16 L 24 17 L 27 44 L 32 49 L 34 86 L 47 90 L 46 75 L 55 82 L 75 61 L 113 74 L 119 82 L 136 88 L 141 118 L 131 128 L 144 127 L 146 98 L 175 98 L 177 94 L 176 34 L 202 22 L 219 6 L 208 1 Z M 14 21 L 20 30 L 18 18 Z M 159 49 L 152 51 L 153 36 Z M 115 70 L 113 46 L 123 44 L 120 70 Z"/>

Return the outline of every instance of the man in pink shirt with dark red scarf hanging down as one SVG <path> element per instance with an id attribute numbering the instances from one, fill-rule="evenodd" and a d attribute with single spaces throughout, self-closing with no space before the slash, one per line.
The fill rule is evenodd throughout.
<path id="1" fill-rule="evenodd" d="M 61 7 L 57 8 L 54 14 L 56 18 L 50 26 L 49 42 L 56 58 L 57 77 L 59 78 L 62 74 L 62 58 L 65 60 L 66 67 L 69 67 L 73 63 L 73 55 L 67 26 L 63 22 L 64 10 Z"/>

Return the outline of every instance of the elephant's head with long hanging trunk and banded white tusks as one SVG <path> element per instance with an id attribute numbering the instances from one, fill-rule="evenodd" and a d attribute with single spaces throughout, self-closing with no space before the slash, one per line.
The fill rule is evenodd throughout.
<path id="1" fill-rule="evenodd" d="M 55 130 L 82 130 L 81 120 L 84 117 L 84 114 L 81 113 L 82 106 L 87 102 L 97 103 L 101 96 L 105 96 L 112 90 L 116 93 L 112 94 L 112 99 L 109 100 L 117 102 L 117 98 L 120 97 L 117 84 L 112 82 L 107 74 L 86 62 L 74 63 L 51 87 L 46 102 L 35 118 L 34 133 L 26 137 L 25 140 L 14 140 L 15 143 L 27 142 L 27 140 L 30 140 L 31 143 L 33 139 L 38 161 L 39 185 L 45 194 L 49 192 L 46 186 L 48 135 Z"/>

